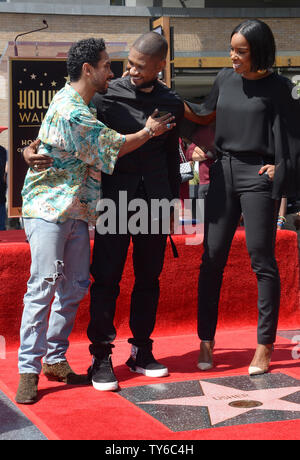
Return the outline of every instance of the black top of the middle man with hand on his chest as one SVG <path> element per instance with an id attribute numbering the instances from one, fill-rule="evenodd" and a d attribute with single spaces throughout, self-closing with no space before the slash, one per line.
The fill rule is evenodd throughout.
<path id="1" fill-rule="evenodd" d="M 106 94 L 96 94 L 93 102 L 97 117 L 106 126 L 121 134 L 141 130 L 156 108 L 172 113 L 177 126 L 172 131 L 149 139 L 145 144 L 118 159 L 113 175 L 149 176 L 166 171 L 173 197 L 178 196 L 179 175 L 179 124 L 184 115 L 180 97 L 162 83 L 156 82 L 150 93 L 139 91 L 130 77 L 113 80 Z M 107 182 L 104 178 L 102 183 Z M 109 178 L 107 178 L 109 179 Z M 153 179 L 154 180 L 154 179 Z"/>

